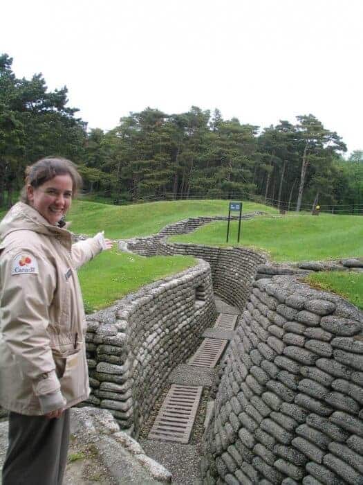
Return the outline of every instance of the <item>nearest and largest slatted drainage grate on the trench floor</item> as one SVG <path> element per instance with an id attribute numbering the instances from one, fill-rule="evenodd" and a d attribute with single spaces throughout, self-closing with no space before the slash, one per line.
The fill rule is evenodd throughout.
<path id="1" fill-rule="evenodd" d="M 149 438 L 188 443 L 203 387 L 173 384 L 149 432 Z"/>

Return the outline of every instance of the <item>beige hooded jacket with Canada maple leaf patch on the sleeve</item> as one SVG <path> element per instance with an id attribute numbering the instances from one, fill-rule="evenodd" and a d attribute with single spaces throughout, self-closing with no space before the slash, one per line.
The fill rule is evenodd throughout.
<path id="1" fill-rule="evenodd" d="M 0 223 L 0 405 L 39 415 L 89 396 L 76 270 L 102 250 L 19 202 Z"/>

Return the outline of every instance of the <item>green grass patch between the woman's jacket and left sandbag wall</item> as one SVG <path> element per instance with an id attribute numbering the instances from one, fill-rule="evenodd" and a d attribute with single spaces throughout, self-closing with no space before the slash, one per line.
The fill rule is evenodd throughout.
<path id="1" fill-rule="evenodd" d="M 127 293 L 195 265 L 192 256 L 145 258 L 116 249 L 103 252 L 79 272 L 86 312 L 110 306 Z"/>

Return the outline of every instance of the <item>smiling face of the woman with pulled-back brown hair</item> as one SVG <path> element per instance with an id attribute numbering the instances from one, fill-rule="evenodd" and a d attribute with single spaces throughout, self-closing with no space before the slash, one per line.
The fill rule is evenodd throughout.
<path id="1" fill-rule="evenodd" d="M 71 207 L 72 189 L 70 175 L 56 175 L 37 188 L 28 185 L 28 201 L 49 224 L 56 225 Z"/>

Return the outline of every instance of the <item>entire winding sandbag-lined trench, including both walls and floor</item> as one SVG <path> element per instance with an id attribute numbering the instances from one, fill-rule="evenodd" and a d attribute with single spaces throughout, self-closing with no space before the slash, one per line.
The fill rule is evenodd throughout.
<path id="1" fill-rule="evenodd" d="M 174 484 L 363 484 L 362 312 L 299 281 L 320 263 L 270 265 L 252 249 L 164 238 L 128 246 L 145 256 L 190 254 L 198 266 L 87 317 L 87 404 L 109 409 Z M 238 315 L 234 329 L 216 328 L 218 315 L 223 325 L 223 315 Z M 204 340 L 212 368 L 198 354 Z M 228 342 L 218 360 L 217 340 Z M 174 408 L 202 388 L 185 442 L 149 435 L 172 386 Z M 181 424 L 177 416 L 172 431 Z"/>

